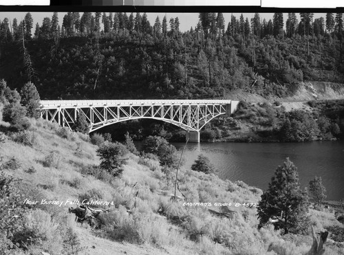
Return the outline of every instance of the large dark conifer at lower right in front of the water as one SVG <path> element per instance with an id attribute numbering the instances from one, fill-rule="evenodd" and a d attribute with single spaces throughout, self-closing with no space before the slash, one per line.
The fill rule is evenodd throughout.
<path id="1" fill-rule="evenodd" d="M 275 229 L 283 230 L 283 234 L 298 233 L 306 228 L 308 195 L 301 190 L 297 168 L 289 158 L 275 170 L 257 211 L 259 228 L 272 218 L 276 219 Z"/>

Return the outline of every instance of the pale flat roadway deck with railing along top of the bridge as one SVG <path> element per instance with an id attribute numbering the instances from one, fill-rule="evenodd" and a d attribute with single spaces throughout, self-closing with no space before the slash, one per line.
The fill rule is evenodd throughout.
<path id="1" fill-rule="evenodd" d="M 56 107 L 104 107 L 104 106 L 150 106 L 150 105 L 197 105 L 197 104 L 230 104 L 231 100 L 41 100 L 41 109 Z"/>

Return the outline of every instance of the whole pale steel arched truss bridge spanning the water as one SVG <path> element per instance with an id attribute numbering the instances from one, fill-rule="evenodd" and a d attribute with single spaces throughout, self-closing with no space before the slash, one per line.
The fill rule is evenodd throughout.
<path id="1" fill-rule="evenodd" d="M 78 115 L 85 114 L 89 132 L 126 120 L 162 120 L 189 131 L 186 136 L 191 142 L 200 142 L 202 127 L 219 115 L 230 115 L 238 103 L 233 100 L 41 100 L 39 111 L 41 118 L 69 129 Z"/>

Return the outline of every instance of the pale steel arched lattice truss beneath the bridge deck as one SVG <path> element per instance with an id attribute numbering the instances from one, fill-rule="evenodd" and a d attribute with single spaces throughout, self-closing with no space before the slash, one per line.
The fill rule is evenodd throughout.
<path id="1" fill-rule="evenodd" d="M 227 104 L 143 104 L 143 105 L 104 105 L 78 107 L 41 108 L 41 118 L 56 122 L 72 129 L 76 117 L 81 112 L 90 123 L 89 132 L 96 131 L 126 120 L 151 118 L 169 122 L 186 131 L 199 132 L 202 127 L 218 115 L 226 113 Z"/>

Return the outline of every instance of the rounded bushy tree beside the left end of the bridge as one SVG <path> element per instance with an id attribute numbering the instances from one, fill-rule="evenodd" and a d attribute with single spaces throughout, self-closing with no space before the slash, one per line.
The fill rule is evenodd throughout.
<path id="1" fill-rule="evenodd" d="M 39 118 L 39 92 L 32 82 L 26 83 L 21 89 L 21 104 L 26 108 L 28 117 Z"/>

